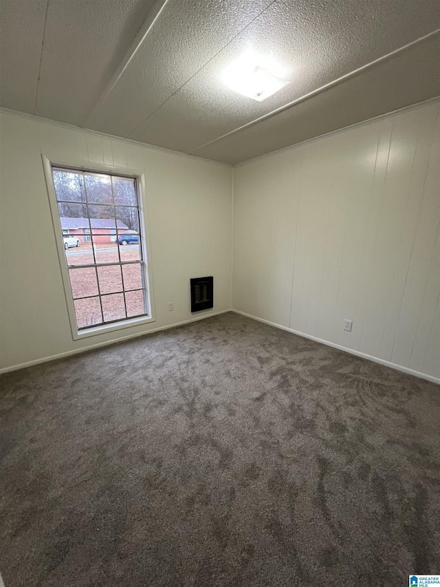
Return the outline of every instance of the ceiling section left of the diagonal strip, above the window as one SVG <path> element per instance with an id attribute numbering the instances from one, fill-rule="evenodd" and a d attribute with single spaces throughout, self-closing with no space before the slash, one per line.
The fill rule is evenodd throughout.
<path id="1" fill-rule="evenodd" d="M 83 126 L 154 0 L 1 0 L 1 106 Z"/>

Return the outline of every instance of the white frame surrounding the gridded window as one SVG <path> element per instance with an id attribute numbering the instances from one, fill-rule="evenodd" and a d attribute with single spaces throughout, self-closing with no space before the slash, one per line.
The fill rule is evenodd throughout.
<path id="1" fill-rule="evenodd" d="M 155 322 L 154 310 L 154 295 L 153 295 L 153 275 L 151 273 L 151 246 L 148 228 L 148 213 L 146 202 L 145 189 L 145 173 L 139 169 L 126 169 L 125 167 L 113 167 L 112 165 L 90 164 L 90 162 L 63 162 L 59 160 L 50 160 L 45 155 L 41 155 L 43 160 L 43 169 L 45 173 L 45 180 L 47 185 L 47 195 L 49 197 L 50 211 L 52 215 L 52 224 L 54 226 L 54 235 L 56 240 L 56 248 L 58 251 L 58 260 L 60 262 L 61 275 L 63 277 L 63 286 L 65 293 L 65 300 L 67 305 L 67 313 L 69 315 L 70 329 L 72 331 L 72 338 L 74 341 L 94 337 L 97 334 L 105 334 L 115 330 L 123 330 L 124 328 L 131 328 Z M 100 324 L 91 326 L 83 330 L 78 330 L 76 323 L 76 314 L 74 306 L 74 297 L 72 294 L 72 287 L 70 285 L 69 269 L 65 258 L 65 248 L 63 243 L 63 229 L 61 228 L 60 215 L 58 213 L 58 200 L 56 199 L 56 191 L 54 185 L 54 177 L 52 175 L 52 168 L 60 167 L 62 169 L 72 169 L 72 171 L 85 171 L 89 173 L 107 173 L 109 175 L 120 175 L 121 177 L 134 178 L 137 184 L 138 205 L 140 209 L 140 223 L 141 235 L 140 246 L 142 247 L 142 257 L 144 263 L 144 277 L 145 277 L 145 291 L 147 303 L 147 315 L 137 318 L 127 318 L 118 322 L 109 324 Z"/>

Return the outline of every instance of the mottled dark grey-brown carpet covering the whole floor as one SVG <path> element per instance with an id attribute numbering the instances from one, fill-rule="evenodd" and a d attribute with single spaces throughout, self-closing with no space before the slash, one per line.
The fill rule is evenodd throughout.
<path id="1" fill-rule="evenodd" d="M 0 378 L 5 587 L 440 573 L 440 389 L 236 314 Z"/>

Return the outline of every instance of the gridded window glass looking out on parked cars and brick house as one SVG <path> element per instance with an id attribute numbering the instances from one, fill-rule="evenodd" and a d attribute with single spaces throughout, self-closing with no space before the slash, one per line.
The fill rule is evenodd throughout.
<path id="1" fill-rule="evenodd" d="M 137 179 L 51 171 L 77 334 L 151 319 Z"/>

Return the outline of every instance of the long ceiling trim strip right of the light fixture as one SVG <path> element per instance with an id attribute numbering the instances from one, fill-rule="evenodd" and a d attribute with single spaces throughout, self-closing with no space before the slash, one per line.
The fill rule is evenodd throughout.
<path id="1" fill-rule="evenodd" d="M 248 127 L 251 127 L 253 125 L 258 124 L 262 120 L 266 120 L 266 118 L 270 118 L 270 116 L 274 116 L 275 114 L 279 114 L 281 111 L 286 110 L 287 108 L 290 108 L 296 104 L 304 102 L 308 98 L 312 98 L 313 96 L 316 96 L 316 94 L 320 94 L 321 92 L 324 92 L 326 89 L 329 89 L 335 85 L 338 85 L 342 81 L 345 81 L 348 78 L 351 78 L 357 74 L 360 74 L 361 72 L 364 72 L 365 70 L 369 69 L 369 67 L 372 67 L 373 65 L 376 65 L 377 63 L 382 63 L 382 61 L 386 61 L 387 59 L 393 57 L 394 55 L 408 49 L 409 47 L 412 47 L 412 45 L 417 45 L 417 43 L 421 43 L 421 41 L 425 41 L 426 39 L 430 39 L 431 36 L 435 36 L 436 34 L 439 34 L 439 32 L 440 32 L 440 29 L 436 29 L 432 32 L 429 32 L 428 34 L 426 34 L 424 36 L 419 37 L 419 39 L 415 39 L 415 41 L 411 41 L 410 43 L 403 45 L 403 47 L 399 47 L 398 49 L 395 49 L 391 53 L 387 53 L 386 55 L 382 55 L 381 57 L 378 57 L 374 61 L 371 61 L 370 63 L 366 63 L 366 65 L 362 65 L 362 67 L 358 67 L 358 69 L 353 70 L 352 72 L 349 72 L 348 74 L 344 74 L 343 76 L 340 76 L 336 80 L 330 81 L 329 83 L 326 83 L 325 85 L 322 85 L 322 86 L 312 90 L 308 94 L 304 94 L 304 96 L 300 96 L 299 98 L 296 98 L 296 100 L 292 100 L 292 102 L 289 102 L 279 108 L 276 108 L 275 110 L 272 110 L 272 111 L 268 112 L 267 114 L 263 114 L 263 116 L 260 116 L 259 118 L 256 118 L 255 120 L 251 120 L 250 122 L 246 122 L 245 125 L 242 125 L 241 127 L 238 127 L 232 131 L 229 131 L 228 133 L 225 133 L 217 138 L 214 138 L 214 139 L 204 143 L 204 145 L 200 145 L 199 147 L 197 147 L 197 149 L 192 149 L 192 151 L 190 151 L 190 154 L 194 154 L 197 151 L 199 151 L 200 149 L 204 149 L 204 147 L 208 147 L 208 145 L 212 145 L 214 142 L 217 142 L 217 141 L 221 140 L 222 138 L 226 138 L 227 136 L 231 136 L 232 134 L 235 134 L 243 129 L 246 129 Z"/>

